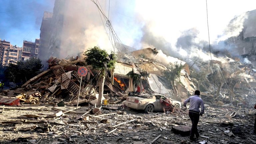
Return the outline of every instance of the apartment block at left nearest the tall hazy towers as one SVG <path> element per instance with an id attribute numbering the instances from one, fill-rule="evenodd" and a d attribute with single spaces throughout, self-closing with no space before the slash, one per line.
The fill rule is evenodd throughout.
<path id="1" fill-rule="evenodd" d="M 28 39 L 24 39 L 21 61 L 26 61 L 33 57 L 37 58 L 38 51 L 39 39 L 36 39 L 35 42 L 32 42 Z"/>

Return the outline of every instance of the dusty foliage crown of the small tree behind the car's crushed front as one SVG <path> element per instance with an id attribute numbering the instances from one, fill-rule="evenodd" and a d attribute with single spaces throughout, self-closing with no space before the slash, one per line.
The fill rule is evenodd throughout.
<path id="1" fill-rule="evenodd" d="M 169 69 L 164 71 L 164 77 L 167 79 L 167 81 L 180 81 L 180 72 L 183 68 L 183 65 L 178 62 L 175 62 L 174 65 L 170 66 Z"/>

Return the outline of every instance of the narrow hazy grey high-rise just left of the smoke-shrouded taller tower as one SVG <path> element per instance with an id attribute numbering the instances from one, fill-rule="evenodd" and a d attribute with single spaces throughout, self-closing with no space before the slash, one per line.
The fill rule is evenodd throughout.
<path id="1" fill-rule="evenodd" d="M 44 16 L 40 28 L 40 41 L 39 41 L 39 52 L 38 58 L 42 60 L 42 64 L 46 65 L 46 60 L 49 58 L 49 37 L 51 31 L 53 13 L 44 12 Z"/>

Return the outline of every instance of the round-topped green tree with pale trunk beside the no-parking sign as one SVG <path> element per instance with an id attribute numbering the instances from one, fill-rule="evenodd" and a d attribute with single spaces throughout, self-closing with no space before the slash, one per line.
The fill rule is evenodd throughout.
<path id="1" fill-rule="evenodd" d="M 88 49 L 83 54 L 85 57 L 85 62 L 87 65 L 91 65 L 92 68 L 100 70 L 99 75 L 99 99 L 98 99 L 98 106 L 102 104 L 102 97 L 103 97 L 103 90 L 104 90 L 104 82 L 105 82 L 105 75 L 107 70 L 111 70 L 115 68 L 116 63 L 116 55 L 113 51 L 111 54 L 108 55 L 106 50 L 100 49 L 99 46 L 94 46 L 93 48 Z"/>

